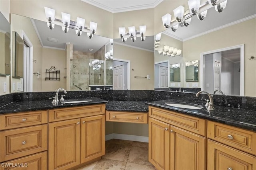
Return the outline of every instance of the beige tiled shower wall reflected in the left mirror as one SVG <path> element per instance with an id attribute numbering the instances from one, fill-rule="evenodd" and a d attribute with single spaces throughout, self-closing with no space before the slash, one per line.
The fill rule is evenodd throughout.
<path id="1" fill-rule="evenodd" d="M 81 51 L 73 51 L 73 61 L 70 63 L 72 70 L 73 83 L 71 90 L 88 90 L 89 85 L 89 59 L 93 59 L 94 54 L 84 53 Z M 76 86 L 75 86 L 76 85 Z"/>

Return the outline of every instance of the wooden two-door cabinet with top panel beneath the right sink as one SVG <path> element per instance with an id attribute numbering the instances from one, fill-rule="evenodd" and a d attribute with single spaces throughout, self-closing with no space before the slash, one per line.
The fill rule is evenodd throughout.
<path id="1" fill-rule="evenodd" d="M 148 159 L 156 169 L 206 169 L 206 120 L 151 106 L 149 116 Z"/>

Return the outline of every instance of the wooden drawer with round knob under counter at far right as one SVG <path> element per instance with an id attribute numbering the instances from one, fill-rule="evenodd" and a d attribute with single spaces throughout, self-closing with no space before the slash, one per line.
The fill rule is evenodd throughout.
<path id="1" fill-rule="evenodd" d="M 208 138 L 256 155 L 256 133 L 208 121 Z"/>

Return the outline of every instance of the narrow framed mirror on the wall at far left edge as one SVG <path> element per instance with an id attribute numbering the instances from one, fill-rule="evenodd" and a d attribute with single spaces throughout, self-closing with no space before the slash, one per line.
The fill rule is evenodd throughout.
<path id="1" fill-rule="evenodd" d="M 0 12 L 0 75 L 10 75 L 10 23 Z"/>

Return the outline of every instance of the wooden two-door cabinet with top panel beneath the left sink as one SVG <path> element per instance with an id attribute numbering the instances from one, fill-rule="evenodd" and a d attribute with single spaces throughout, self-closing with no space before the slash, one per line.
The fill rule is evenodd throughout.
<path id="1" fill-rule="evenodd" d="M 48 124 L 49 170 L 66 170 L 105 154 L 105 104 L 54 109 L 50 112 L 56 113 L 52 118 L 57 119 L 49 116 L 54 121 Z M 71 119 L 68 119 L 67 112 Z M 68 120 L 58 121 L 62 117 Z"/>

